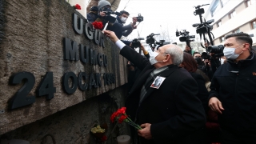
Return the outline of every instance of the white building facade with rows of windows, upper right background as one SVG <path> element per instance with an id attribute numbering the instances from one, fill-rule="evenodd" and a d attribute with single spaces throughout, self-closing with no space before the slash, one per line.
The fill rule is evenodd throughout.
<path id="1" fill-rule="evenodd" d="M 251 34 L 256 46 L 256 0 L 213 0 L 203 17 L 214 19 L 215 46 L 223 44 L 227 34 L 239 32 Z"/>

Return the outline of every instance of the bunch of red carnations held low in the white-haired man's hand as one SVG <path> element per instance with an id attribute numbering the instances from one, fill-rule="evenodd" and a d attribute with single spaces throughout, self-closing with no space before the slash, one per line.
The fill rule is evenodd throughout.
<path id="1" fill-rule="evenodd" d="M 141 130 L 142 127 L 138 124 L 134 123 L 127 115 L 126 115 L 126 107 L 122 107 L 121 109 L 118 109 L 116 112 L 114 112 L 110 117 L 111 122 L 114 122 L 114 120 L 117 120 L 119 123 L 126 122 L 130 126 L 134 126 L 135 129 Z"/>

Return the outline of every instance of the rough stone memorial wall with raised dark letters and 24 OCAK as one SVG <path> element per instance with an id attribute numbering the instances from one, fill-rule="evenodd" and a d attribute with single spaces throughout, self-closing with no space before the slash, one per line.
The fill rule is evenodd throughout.
<path id="1" fill-rule="evenodd" d="M 0 135 L 59 111 L 97 123 L 104 96 L 123 104 L 126 77 L 118 48 L 65 0 L 0 1 Z"/>

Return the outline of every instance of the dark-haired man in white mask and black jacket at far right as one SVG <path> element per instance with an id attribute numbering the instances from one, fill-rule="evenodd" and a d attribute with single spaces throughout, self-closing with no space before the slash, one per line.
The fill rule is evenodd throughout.
<path id="1" fill-rule="evenodd" d="M 209 106 L 218 113 L 222 144 L 256 143 L 256 58 L 248 34 L 226 35 L 228 61 L 214 73 Z"/>

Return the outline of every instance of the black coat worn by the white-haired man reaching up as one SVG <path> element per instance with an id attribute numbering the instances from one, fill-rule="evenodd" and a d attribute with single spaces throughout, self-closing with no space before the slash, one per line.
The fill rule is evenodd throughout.
<path id="1" fill-rule="evenodd" d="M 159 89 L 146 87 L 147 93 L 139 104 L 140 91 L 155 70 L 147 58 L 125 46 L 120 51 L 125 58 L 138 66 L 142 73 L 126 99 L 126 113 L 138 124 L 151 123 L 151 140 L 141 143 L 190 143 L 190 134 L 205 125 L 206 115 L 197 98 L 198 84 L 185 69 L 170 65 L 162 72 L 166 78 Z M 138 106 L 139 105 L 139 106 Z"/>

